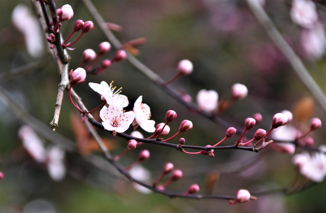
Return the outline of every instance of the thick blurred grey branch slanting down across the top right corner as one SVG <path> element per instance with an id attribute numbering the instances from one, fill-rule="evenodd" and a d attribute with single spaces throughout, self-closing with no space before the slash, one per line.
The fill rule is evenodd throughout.
<path id="1" fill-rule="evenodd" d="M 290 45 L 286 42 L 283 36 L 276 29 L 271 19 L 266 14 L 265 10 L 255 1 L 246 0 L 249 8 L 256 16 L 260 24 L 265 28 L 267 34 L 273 40 L 275 45 L 281 50 L 284 56 L 291 64 L 294 72 L 301 82 L 308 88 L 311 94 L 315 97 L 320 107 L 326 112 L 326 96 L 321 91 L 315 80 L 310 76 L 308 70 L 304 67 L 303 62 L 293 51 Z"/>

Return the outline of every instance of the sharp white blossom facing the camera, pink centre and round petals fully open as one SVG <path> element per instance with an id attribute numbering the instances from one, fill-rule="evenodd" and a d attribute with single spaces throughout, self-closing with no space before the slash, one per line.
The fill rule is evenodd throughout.
<path id="1" fill-rule="evenodd" d="M 104 106 L 100 111 L 103 127 L 109 131 L 125 132 L 135 118 L 134 112 L 124 112 L 118 103 L 112 103 L 109 107 Z"/>

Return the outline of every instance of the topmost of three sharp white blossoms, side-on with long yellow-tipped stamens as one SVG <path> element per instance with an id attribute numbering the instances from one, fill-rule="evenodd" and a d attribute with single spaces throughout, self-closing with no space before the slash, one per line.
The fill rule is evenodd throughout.
<path id="1" fill-rule="evenodd" d="M 121 88 L 114 92 L 116 87 L 112 86 L 113 81 L 110 83 L 110 86 L 107 82 L 102 81 L 100 84 L 97 83 L 88 83 L 88 85 L 97 93 L 101 95 L 102 100 L 106 100 L 106 103 L 113 104 L 118 103 L 122 107 L 126 107 L 129 104 L 128 98 L 126 95 L 121 95 Z"/>

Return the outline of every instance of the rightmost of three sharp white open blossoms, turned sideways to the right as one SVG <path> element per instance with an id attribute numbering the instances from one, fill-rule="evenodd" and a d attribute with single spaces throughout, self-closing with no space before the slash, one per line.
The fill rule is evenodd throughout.
<path id="1" fill-rule="evenodd" d="M 146 132 L 155 131 L 155 121 L 149 120 L 151 118 L 151 109 L 147 104 L 143 104 L 142 96 L 139 96 L 135 101 L 133 111 L 135 113 L 135 121 L 132 123 L 133 126 L 140 125 Z"/>

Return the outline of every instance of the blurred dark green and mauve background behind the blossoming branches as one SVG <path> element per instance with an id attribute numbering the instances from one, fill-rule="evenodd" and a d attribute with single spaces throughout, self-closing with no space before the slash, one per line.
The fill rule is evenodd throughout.
<path id="1" fill-rule="evenodd" d="M 81 1 L 55 2 L 57 8 L 70 4 L 74 9 L 74 17 L 62 23 L 64 38 L 70 34 L 76 20 L 94 21 Z M 194 64 L 193 73 L 178 79 L 171 87 L 184 90 L 191 95 L 194 102 L 200 89 L 216 90 L 220 100 L 228 100 L 230 87 L 234 83 L 245 84 L 249 91 L 248 97 L 235 102 L 230 109 L 220 115 L 220 118 L 235 127 L 243 126 L 245 118 L 259 112 L 263 116 L 263 122 L 255 129 L 267 130 L 275 113 L 284 109 L 294 110 L 302 98 L 309 99 L 309 92 L 259 25 L 245 1 L 162 0 L 93 1 L 93 3 L 105 21 L 123 27 L 122 31 L 115 32 L 122 42 L 139 37 L 146 38 L 146 43 L 137 47 L 140 51 L 137 58 L 163 79 L 172 78 L 176 74 L 178 62 L 189 59 Z M 27 51 L 26 36 L 15 27 L 11 19 L 12 10 L 19 4 L 26 5 L 32 11 L 29 1 L 0 2 L 1 87 L 30 115 L 42 121 L 51 130 L 48 123 L 53 118 L 60 78 L 44 36 L 41 37 L 43 40 L 39 40 L 44 48 L 42 54 L 35 56 Z M 304 29 L 294 24 L 290 18 L 291 1 L 267 0 L 264 8 L 281 34 L 302 58 L 316 83 L 325 92 L 325 56 L 314 58 L 304 51 L 301 36 Z M 321 23 L 324 23 L 325 6 L 319 8 L 323 8 L 319 10 L 319 16 Z M 82 36 L 74 45 L 76 49 L 69 51 L 70 68 L 78 67 L 83 50 L 88 48 L 97 50 L 98 44 L 103 41 L 107 41 L 107 38 L 95 24 L 94 29 Z M 111 59 L 115 51 L 112 48 L 102 59 Z M 31 69 L 20 69 L 30 65 Z M 134 101 L 142 95 L 143 103 L 151 107 L 152 119 L 156 123 L 165 121 L 167 110 L 176 111 L 178 117 L 170 124 L 170 135 L 177 132 L 181 121 L 185 119 L 192 121 L 194 128 L 182 135 L 187 145 L 205 146 L 214 144 L 224 137 L 225 127 L 216 125 L 196 113 L 188 112 L 127 61 L 113 64 L 102 75 L 88 75 L 85 83 L 74 87 L 89 109 L 97 107 L 101 100 L 98 94 L 88 87 L 88 82 L 99 83 L 102 80 L 107 82 L 114 80 L 115 86 L 123 87 L 123 94 L 128 96 L 130 101 L 126 110 L 131 110 Z M 296 117 L 298 121 L 293 122 L 305 128 L 310 118 L 319 117 L 324 125 L 325 113 L 317 103 L 308 102 L 306 108 Z M 0 107 L 0 171 L 4 173 L 4 178 L 0 180 L 0 212 L 298 213 L 322 212 L 326 209 L 325 180 L 291 196 L 276 193 L 259 197 L 257 201 L 231 207 L 225 200 L 197 201 L 170 199 L 155 193 L 144 194 L 135 190 L 130 182 L 120 177 L 105 161 L 101 161 L 99 152 L 92 152 L 91 155 L 94 157 L 92 158 L 90 155 L 81 155 L 77 148 L 66 152 L 65 178 L 54 181 L 49 176 L 46 166 L 36 163 L 22 148 L 18 130 L 25 123 L 17 118 L 4 102 L 1 102 Z M 81 132 L 85 130 L 80 127 L 79 121 L 71 121 L 72 114 L 76 112 L 66 92 L 56 133 L 77 146 L 75 141 L 78 133 L 74 131 L 73 126 L 77 126 Z M 93 114 L 97 116 L 97 112 Z M 126 133 L 130 132 L 131 128 Z M 108 141 L 112 155 L 126 148 L 124 139 L 113 137 L 101 130 L 98 130 L 98 133 Z M 149 133 L 143 134 L 145 137 L 150 136 Z M 42 133 L 39 135 L 44 139 L 45 145 L 53 143 L 42 136 Z M 311 136 L 315 139 L 314 147 L 325 144 L 325 128 L 319 129 Z M 62 144 L 62 141 L 54 142 Z M 171 142 L 178 143 L 178 140 Z M 233 143 L 233 140 L 227 140 L 224 145 Z M 142 166 L 151 172 L 153 179 L 159 176 L 166 162 L 172 162 L 175 168 L 184 172 L 182 180 L 167 188 L 169 191 L 184 192 L 190 184 L 198 183 L 201 193 L 234 195 L 241 188 L 258 192 L 286 187 L 296 177 L 296 170 L 291 164 L 292 156 L 271 149 L 259 153 L 215 150 L 215 157 L 209 158 L 202 155 L 185 155 L 174 149 L 143 144 L 122 158 L 120 163 L 125 166 L 131 164 L 141 149 L 148 149 L 151 152 L 150 159 L 142 163 Z M 296 153 L 302 151 L 304 150 L 297 149 Z M 258 163 L 243 171 L 232 172 L 257 156 L 261 156 Z M 217 182 L 209 184 L 207 181 L 209 177 L 217 178 Z"/>

